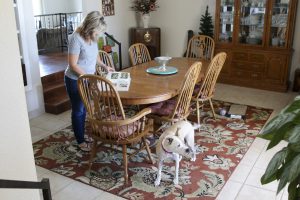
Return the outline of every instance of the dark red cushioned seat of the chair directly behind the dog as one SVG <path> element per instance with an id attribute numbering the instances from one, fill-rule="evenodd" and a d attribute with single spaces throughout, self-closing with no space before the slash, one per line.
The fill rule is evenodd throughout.
<path id="1" fill-rule="evenodd" d="M 155 103 L 149 106 L 151 114 L 158 116 L 169 116 L 172 114 L 176 106 L 176 99 L 172 98 L 163 102 Z"/>

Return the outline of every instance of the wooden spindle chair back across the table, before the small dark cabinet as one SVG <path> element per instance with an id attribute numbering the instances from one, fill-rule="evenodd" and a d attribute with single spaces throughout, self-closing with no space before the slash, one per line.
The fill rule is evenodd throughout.
<path id="1" fill-rule="evenodd" d="M 128 49 L 130 62 L 132 65 L 138 65 L 151 61 L 151 57 L 146 45 L 135 43 Z"/>

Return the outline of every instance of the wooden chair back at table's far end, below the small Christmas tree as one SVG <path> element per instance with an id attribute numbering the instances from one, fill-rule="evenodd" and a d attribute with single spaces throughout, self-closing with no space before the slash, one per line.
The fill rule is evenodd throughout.
<path id="1" fill-rule="evenodd" d="M 187 48 L 186 57 L 211 60 L 214 56 L 215 41 L 206 35 L 194 35 Z"/>

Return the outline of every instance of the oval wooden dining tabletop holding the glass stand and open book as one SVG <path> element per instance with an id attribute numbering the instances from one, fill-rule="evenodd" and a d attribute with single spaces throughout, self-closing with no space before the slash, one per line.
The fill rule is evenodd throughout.
<path id="1" fill-rule="evenodd" d="M 186 72 L 196 61 L 202 62 L 198 78 L 200 81 L 204 77 L 210 61 L 196 58 L 172 58 L 167 66 L 176 67 L 178 70 L 177 73 L 172 75 L 154 75 L 148 73 L 146 70 L 149 67 L 158 66 L 158 63 L 154 60 L 122 70 L 129 72 L 131 77 L 129 90 L 119 91 L 123 105 L 157 103 L 178 95 Z"/>

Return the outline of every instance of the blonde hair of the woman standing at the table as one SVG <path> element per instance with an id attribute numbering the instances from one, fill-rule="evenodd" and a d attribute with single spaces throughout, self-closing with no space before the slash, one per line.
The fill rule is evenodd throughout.
<path id="1" fill-rule="evenodd" d="M 100 14 L 99 11 L 92 11 L 87 14 L 76 31 L 81 35 L 81 37 L 86 40 L 90 36 L 92 36 L 95 30 L 103 32 L 105 31 L 105 29 L 106 23 L 104 21 L 104 17 Z"/>

